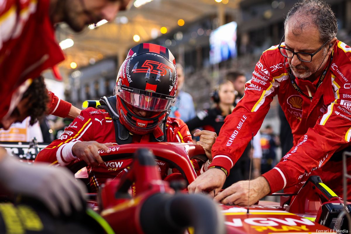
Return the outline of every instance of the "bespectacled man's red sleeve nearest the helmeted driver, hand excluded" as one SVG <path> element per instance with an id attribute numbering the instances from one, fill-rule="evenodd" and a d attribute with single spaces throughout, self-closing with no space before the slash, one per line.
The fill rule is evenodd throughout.
<path id="1" fill-rule="evenodd" d="M 256 64 L 252 79 L 245 85 L 243 99 L 225 119 L 212 147 L 213 161 L 210 167 L 222 167 L 229 172 L 261 127 L 276 93 L 275 89 L 287 77 L 283 73 L 273 78 L 267 67 L 264 53 Z"/>

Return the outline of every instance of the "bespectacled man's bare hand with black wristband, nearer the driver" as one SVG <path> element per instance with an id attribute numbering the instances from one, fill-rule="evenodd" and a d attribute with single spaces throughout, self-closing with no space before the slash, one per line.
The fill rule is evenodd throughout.
<path id="1" fill-rule="evenodd" d="M 189 193 L 201 193 L 203 191 L 209 192 L 211 196 L 221 190 L 226 179 L 225 173 L 217 168 L 210 168 L 206 172 L 199 175 L 190 185 L 188 185 Z"/>

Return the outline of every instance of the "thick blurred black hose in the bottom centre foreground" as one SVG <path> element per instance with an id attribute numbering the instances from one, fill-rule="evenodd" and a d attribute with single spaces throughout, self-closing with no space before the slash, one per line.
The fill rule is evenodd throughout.
<path id="1" fill-rule="evenodd" d="M 183 234 L 188 227 L 194 234 L 225 233 L 219 208 L 202 194 L 155 194 L 141 208 L 140 223 L 145 234 Z"/>

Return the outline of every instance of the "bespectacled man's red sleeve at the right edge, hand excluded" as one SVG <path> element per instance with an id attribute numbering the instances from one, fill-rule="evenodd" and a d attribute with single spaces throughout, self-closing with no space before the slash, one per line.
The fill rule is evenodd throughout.
<path id="1" fill-rule="evenodd" d="M 335 101 L 282 161 L 263 174 L 272 193 L 305 180 L 311 171 L 322 167 L 337 149 L 350 145 L 351 90 L 333 75 L 332 86 Z"/>

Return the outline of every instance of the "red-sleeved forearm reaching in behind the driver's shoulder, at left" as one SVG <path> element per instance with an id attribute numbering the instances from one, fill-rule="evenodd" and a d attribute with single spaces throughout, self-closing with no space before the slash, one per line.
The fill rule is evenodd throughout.
<path id="1" fill-rule="evenodd" d="M 71 103 L 61 100 L 53 92 L 48 91 L 49 102 L 46 114 L 56 115 L 62 118 L 76 118 L 80 114 L 80 109 L 72 106 Z"/>

